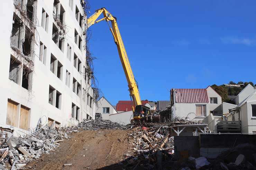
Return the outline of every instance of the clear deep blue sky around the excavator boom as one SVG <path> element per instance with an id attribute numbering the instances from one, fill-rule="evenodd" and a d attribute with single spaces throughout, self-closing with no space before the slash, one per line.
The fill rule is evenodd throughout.
<path id="1" fill-rule="evenodd" d="M 256 83 L 256 1 L 90 0 L 117 17 L 141 99 L 169 100 L 171 88 L 205 88 L 229 81 Z M 116 105 L 129 100 L 108 25 L 90 27 L 95 76 Z"/>

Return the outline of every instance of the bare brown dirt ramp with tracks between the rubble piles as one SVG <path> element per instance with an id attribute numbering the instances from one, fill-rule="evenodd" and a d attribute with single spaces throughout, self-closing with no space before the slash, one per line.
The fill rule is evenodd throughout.
<path id="1" fill-rule="evenodd" d="M 42 156 L 38 159 L 39 162 L 31 161 L 27 168 L 38 170 L 121 169 L 122 166 L 118 162 L 131 148 L 127 133 L 127 130 L 86 130 L 73 133 L 72 138 L 64 140 L 59 148 L 51 152 L 51 155 Z M 72 166 L 63 166 L 70 163 Z"/>

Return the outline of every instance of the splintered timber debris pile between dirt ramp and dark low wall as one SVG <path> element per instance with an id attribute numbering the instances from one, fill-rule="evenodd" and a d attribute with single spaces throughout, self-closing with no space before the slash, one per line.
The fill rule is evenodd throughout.
<path id="1" fill-rule="evenodd" d="M 126 170 L 162 168 L 162 160 L 171 160 L 174 154 L 174 137 L 168 126 L 135 127 L 129 135 L 134 156 L 126 154 L 122 161 Z"/>

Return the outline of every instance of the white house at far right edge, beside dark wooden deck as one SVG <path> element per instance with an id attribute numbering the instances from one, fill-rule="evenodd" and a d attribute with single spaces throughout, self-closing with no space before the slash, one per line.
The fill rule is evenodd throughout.
<path id="1" fill-rule="evenodd" d="M 218 126 L 219 131 L 232 131 L 242 133 L 256 133 L 256 92 L 252 85 L 248 84 L 237 96 L 236 107 L 229 109 L 228 114 L 225 116 L 226 126 L 232 128 L 221 128 Z M 228 125 L 227 125 L 228 124 Z"/>

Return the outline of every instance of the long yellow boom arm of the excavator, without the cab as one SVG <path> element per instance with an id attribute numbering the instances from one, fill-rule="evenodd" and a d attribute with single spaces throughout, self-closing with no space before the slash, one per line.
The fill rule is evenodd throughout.
<path id="1" fill-rule="evenodd" d="M 101 14 L 103 14 L 104 17 L 102 19 L 97 20 Z M 109 28 L 113 35 L 114 41 L 117 45 L 119 57 L 125 71 L 125 76 L 126 76 L 129 91 L 130 91 L 130 96 L 132 97 L 132 101 L 134 102 L 135 106 L 141 105 L 139 89 L 135 81 L 134 74 L 132 73 L 131 65 L 125 50 L 125 45 L 122 41 L 121 34 L 117 26 L 117 19 L 113 17 L 105 8 L 100 8 L 96 10 L 96 12 L 90 18 L 87 19 L 87 28 L 103 20 L 107 21 L 108 24 L 109 24 L 109 21 L 111 21 L 112 28 L 110 25 L 109 25 Z M 133 111 L 135 111 L 134 107 L 132 109 Z"/>

